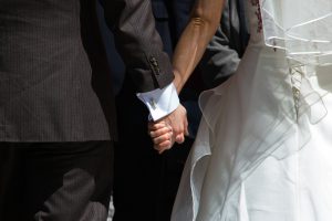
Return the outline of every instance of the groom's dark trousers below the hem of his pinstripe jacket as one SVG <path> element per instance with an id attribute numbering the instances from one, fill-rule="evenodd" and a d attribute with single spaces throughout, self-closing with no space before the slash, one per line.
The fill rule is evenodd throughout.
<path id="1" fill-rule="evenodd" d="M 0 144 L 12 158 L 0 183 L 1 221 L 106 220 L 111 141 Z"/>

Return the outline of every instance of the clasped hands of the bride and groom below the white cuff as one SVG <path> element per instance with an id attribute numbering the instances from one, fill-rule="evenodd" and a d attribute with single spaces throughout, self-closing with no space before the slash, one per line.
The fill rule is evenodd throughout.
<path id="1" fill-rule="evenodd" d="M 170 149 L 174 143 L 181 144 L 188 135 L 187 110 L 179 105 L 166 117 L 148 123 L 148 135 L 152 137 L 154 148 L 162 154 Z"/>

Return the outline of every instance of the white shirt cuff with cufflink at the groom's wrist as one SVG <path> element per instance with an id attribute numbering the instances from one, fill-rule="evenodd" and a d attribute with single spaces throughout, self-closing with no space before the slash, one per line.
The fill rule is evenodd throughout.
<path id="1" fill-rule="evenodd" d="M 179 105 L 179 98 L 173 83 L 162 90 L 137 93 L 137 97 L 147 106 L 153 120 L 165 117 Z"/>

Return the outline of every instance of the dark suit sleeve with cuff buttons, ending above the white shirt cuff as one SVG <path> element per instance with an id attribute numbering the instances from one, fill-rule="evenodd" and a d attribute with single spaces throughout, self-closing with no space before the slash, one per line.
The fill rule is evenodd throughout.
<path id="1" fill-rule="evenodd" d="M 151 1 L 104 0 L 103 4 L 117 51 L 137 92 L 169 85 L 174 78 L 173 67 L 155 29 Z"/>

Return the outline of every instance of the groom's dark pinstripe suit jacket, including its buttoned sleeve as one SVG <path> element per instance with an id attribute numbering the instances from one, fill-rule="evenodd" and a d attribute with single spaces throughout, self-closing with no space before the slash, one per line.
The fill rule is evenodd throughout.
<path id="1" fill-rule="evenodd" d="M 106 0 L 104 9 L 137 91 L 169 84 L 151 2 Z M 110 74 L 95 0 L 0 1 L 0 141 L 110 139 Z"/>

